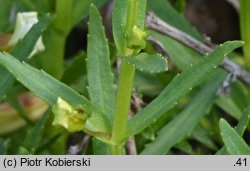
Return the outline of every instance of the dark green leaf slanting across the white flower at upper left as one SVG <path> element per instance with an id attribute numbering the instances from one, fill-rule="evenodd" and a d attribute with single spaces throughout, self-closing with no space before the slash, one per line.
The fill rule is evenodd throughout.
<path id="1" fill-rule="evenodd" d="M 51 20 L 52 18 L 48 14 L 43 16 L 16 45 L 11 54 L 21 61 L 27 60 L 37 40 L 49 26 Z M 4 68 L 0 67 L 0 99 L 9 91 L 14 81 L 15 78 Z"/>

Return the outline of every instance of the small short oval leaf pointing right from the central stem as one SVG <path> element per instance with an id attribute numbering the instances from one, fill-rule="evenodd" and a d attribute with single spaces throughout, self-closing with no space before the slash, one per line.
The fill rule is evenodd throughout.
<path id="1" fill-rule="evenodd" d="M 124 57 L 123 59 L 135 66 L 139 71 L 160 73 L 168 70 L 167 60 L 157 54 L 149 55 L 147 53 L 140 53 L 137 56 Z"/>

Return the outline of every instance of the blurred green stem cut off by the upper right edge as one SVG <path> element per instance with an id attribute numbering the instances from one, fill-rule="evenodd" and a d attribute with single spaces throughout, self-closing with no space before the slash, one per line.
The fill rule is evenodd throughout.
<path id="1" fill-rule="evenodd" d="M 241 37 L 245 42 L 243 46 L 243 52 L 245 57 L 246 65 L 250 64 L 250 1 L 240 1 L 240 26 L 241 26 Z M 250 68 L 248 66 L 248 68 Z"/>

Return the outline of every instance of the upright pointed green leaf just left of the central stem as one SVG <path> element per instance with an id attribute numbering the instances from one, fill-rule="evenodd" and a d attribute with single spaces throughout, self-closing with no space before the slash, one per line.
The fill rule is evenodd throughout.
<path id="1" fill-rule="evenodd" d="M 87 71 L 91 102 L 97 105 L 110 121 L 113 120 L 115 90 L 111 71 L 108 41 L 98 9 L 92 4 L 89 12 Z"/>

